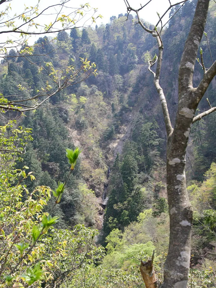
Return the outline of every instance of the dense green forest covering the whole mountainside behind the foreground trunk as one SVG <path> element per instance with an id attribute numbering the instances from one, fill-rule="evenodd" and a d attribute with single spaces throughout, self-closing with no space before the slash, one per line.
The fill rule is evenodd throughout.
<path id="1" fill-rule="evenodd" d="M 161 32 L 160 83 L 172 125 L 196 3 L 173 6 Z M 106 25 L 63 29 L 54 39 L 43 35 L 32 52 L 23 45 L 19 51 L 6 49 L 2 57 L 2 105 L 14 95 L 34 101 L 42 87 L 54 88 L 47 77 L 65 67 L 84 65 L 84 73 L 92 67 L 94 73 L 76 78 L 35 110 L 0 108 L 1 287 L 145 287 L 139 265 L 154 250 L 155 273 L 163 283 L 170 236 L 167 136 L 148 70 L 158 47 L 152 35 L 134 25 L 135 13 L 125 14 L 124 7 L 122 12 L 110 15 Z M 195 86 L 202 62 L 210 67 L 216 59 L 215 26 L 216 4 L 210 1 Z M 214 78 L 196 114 L 216 106 L 215 92 Z M 215 120 L 211 113 L 193 124 L 185 155 L 193 207 L 191 288 L 216 286 Z"/>

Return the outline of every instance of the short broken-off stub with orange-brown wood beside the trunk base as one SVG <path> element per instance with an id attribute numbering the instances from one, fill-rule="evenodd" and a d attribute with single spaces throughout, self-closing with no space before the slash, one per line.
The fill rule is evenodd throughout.
<path id="1" fill-rule="evenodd" d="M 145 282 L 146 288 L 159 287 L 153 266 L 154 252 L 152 255 L 152 260 L 149 259 L 147 262 L 141 261 L 140 264 L 140 273 L 142 275 L 143 281 Z"/>

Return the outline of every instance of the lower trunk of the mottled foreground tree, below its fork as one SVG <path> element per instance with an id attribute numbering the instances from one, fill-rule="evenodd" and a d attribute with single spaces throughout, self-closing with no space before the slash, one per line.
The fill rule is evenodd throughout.
<path id="1" fill-rule="evenodd" d="M 193 210 L 187 195 L 185 179 L 186 149 L 175 143 L 175 137 L 173 136 L 173 134 L 170 136 L 167 143 L 167 196 L 170 214 L 170 243 L 164 266 L 164 283 L 162 287 L 186 288 L 190 266 Z"/>

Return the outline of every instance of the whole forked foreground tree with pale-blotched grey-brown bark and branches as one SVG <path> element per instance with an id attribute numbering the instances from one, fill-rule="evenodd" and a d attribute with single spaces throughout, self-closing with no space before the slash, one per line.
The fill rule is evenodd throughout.
<path id="1" fill-rule="evenodd" d="M 187 1 L 187 0 L 186 0 Z M 179 3 L 185 3 L 181 1 Z M 128 4 L 128 1 L 125 0 Z M 178 4 L 179 4 L 178 3 Z M 193 87 L 193 72 L 198 47 L 202 38 L 208 13 L 209 0 L 198 0 L 193 22 L 179 67 L 179 104 L 176 113 L 174 128 L 170 122 L 167 102 L 163 89 L 159 84 L 161 73 L 163 42 L 157 30 L 149 31 L 139 17 L 139 10 L 127 5 L 128 13 L 134 11 L 138 16 L 138 23 L 146 32 L 156 37 L 158 42 L 158 56 L 154 62 L 149 61 L 149 71 L 154 75 L 154 84 L 161 100 L 164 121 L 167 131 L 167 197 L 170 214 L 170 243 L 167 259 L 164 266 L 163 288 L 186 288 L 190 266 L 190 245 L 193 210 L 187 194 L 185 179 L 185 160 L 190 129 L 194 122 L 214 112 L 215 107 L 194 117 L 199 101 L 202 99 L 208 85 L 216 74 L 216 61 L 206 71 L 197 88 Z M 170 7 L 174 5 L 170 4 Z M 163 15 L 164 16 L 164 15 Z M 162 24 L 162 17 L 160 22 Z M 151 67 L 157 62 L 156 73 Z M 147 263 L 147 262 L 146 262 Z M 147 264 L 146 264 L 147 265 Z M 142 264 L 141 264 L 142 266 Z M 150 266 L 146 266 L 147 268 Z M 145 267 L 144 267 L 145 268 Z M 155 280 L 147 283 L 146 287 L 154 287 Z"/>

